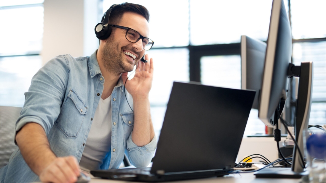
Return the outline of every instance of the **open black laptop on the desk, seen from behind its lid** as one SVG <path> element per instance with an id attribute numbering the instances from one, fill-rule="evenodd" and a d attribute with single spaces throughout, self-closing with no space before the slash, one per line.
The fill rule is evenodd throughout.
<path id="1" fill-rule="evenodd" d="M 160 182 L 228 175 L 255 91 L 173 82 L 151 168 L 94 170 L 93 176 Z"/>

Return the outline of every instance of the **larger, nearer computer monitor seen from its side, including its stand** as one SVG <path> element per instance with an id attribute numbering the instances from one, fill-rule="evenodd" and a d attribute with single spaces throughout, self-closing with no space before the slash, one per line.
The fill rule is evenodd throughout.
<path id="1" fill-rule="evenodd" d="M 291 54 L 291 27 L 285 5 L 283 0 L 273 0 L 258 116 L 266 125 L 274 126 L 278 121 L 276 111 L 281 113 L 285 104 L 288 78 L 300 77 L 294 130 L 298 148 L 304 155 L 304 133 L 308 127 L 312 98 L 312 62 L 294 66 L 290 63 Z M 265 169 L 257 172 L 256 177 L 298 178 L 304 175 L 299 151 L 293 149 L 291 171 Z"/>

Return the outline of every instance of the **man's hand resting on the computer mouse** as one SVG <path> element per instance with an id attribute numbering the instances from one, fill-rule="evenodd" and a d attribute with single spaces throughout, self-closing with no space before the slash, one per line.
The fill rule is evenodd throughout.
<path id="1" fill-rule="evenodd" d="M 57 157 L 39 175 L 42 182 L 74 183 L 80 175 L 79 165 L 74 156 Z"/>

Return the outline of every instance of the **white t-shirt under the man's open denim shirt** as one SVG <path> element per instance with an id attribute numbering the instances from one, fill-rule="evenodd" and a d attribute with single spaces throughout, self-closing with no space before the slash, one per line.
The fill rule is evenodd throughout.
<path id="1" fill-rule="evenodd" d="M 89 131 L 82 158 L 79 163 L 84 171 L 98 170 L 111 149 L 112 132 L 111 96 L 98 103 Z"/>

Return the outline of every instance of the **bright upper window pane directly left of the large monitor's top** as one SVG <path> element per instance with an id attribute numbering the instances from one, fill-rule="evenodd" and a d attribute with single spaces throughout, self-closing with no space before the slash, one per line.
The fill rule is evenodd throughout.
<path id="1" fill-rule="evenodd" d="M 239 43 L 241 35 L 267 40 L 272 1 L 190 0 L 192 45 Z"/>

